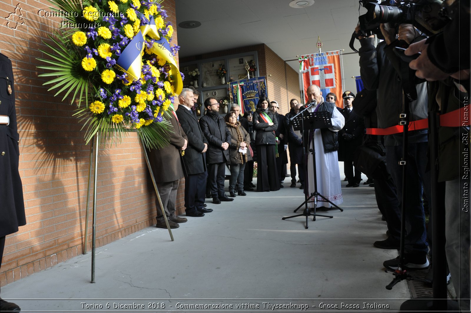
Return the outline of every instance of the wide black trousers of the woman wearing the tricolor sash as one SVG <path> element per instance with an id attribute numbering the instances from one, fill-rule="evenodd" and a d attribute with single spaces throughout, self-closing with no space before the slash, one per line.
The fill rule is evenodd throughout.
<path id="1" fill-rule="evenodd" d="M 257 191 L 280 190 L 275 145 L 258 145 L 257 160 Z"/>

